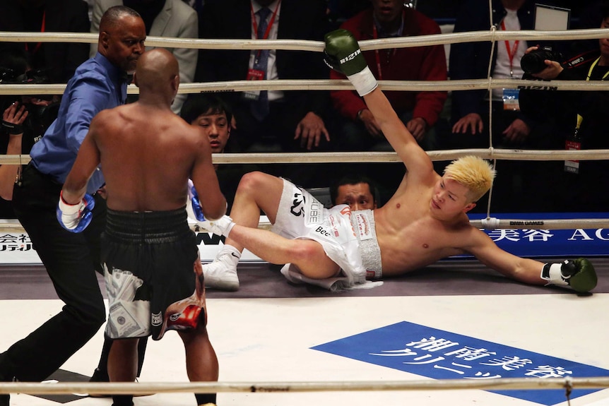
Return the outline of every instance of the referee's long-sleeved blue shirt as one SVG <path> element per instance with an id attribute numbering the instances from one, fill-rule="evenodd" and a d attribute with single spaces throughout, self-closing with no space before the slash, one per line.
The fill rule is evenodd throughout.
<path id="1" fill-rule="evenodd" d="M 32 165 L 64 184 L 91 120 L 103 109 L 124 105 L 127 85 L 124 71 L 100 53 L 78 66 L 61 98 L 57 119 L 30 150 Z M 89 180 L 87 193 L 95 193 L 103 184 L 98 167 Z"/>

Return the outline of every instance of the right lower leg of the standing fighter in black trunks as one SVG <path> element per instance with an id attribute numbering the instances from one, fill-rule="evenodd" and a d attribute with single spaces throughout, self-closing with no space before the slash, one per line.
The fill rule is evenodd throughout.
<path id="1" fill-rule="evenodd" d="M 178 331 L 186 351 L 186 371 L 191 382 L 218 381 L 218 357 L 209 341 L 205 326 Z M 195 393 L 197 405 L 215 404 L 215 393 Z"/>

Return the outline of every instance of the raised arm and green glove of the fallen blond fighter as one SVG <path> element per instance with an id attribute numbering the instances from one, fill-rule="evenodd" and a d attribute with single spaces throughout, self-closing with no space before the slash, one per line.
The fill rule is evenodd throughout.
<path id="1" fill-rule="evenodd" d="M 409 179 L 432 174 L 432 160 L 406 129 L 383 92 L 377 88 L 377 80 L 351 32 L 341 29 L 326 34 L 325 53 L 326 64 L 344 73 L 357 93 L 364 97 L 385 138 L 408 168 Z"/>

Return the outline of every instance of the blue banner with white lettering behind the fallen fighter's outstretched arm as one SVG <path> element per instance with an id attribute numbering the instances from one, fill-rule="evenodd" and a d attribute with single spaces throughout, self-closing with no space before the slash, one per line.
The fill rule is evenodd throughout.
<path id="1" fill-rule="evenodd" d="M 471 220 L 480 220 L 486 215 L 469 215 Z M 609 218 L 609 213 L 499 213 L 490 217 L 500 219 L 548 220 L 575 218 Z M 516 256 L 573 257 L 608 256 L 609 227 L 606 229 L 493 229 L 484 232 L 499 248 Z M 471 256 L 463 256 L 471 258 Z"/>

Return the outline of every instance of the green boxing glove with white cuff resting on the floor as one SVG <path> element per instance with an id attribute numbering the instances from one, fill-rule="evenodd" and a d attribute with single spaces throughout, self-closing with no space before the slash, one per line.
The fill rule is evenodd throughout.
<path id="1" fill-rule="evenodd" d="M 548 285 L 571 287 L 578 293 L 590 292 L 597 282 L 596 270 L 586 258 L 546 263 L 541 270 L 541 277 L 548 280 Z"/>

